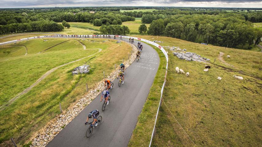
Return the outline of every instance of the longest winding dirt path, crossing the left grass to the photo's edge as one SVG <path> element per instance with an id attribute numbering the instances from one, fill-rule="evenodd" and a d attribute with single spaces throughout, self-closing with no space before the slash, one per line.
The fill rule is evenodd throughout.
<path id="1" fill-rule="evenodd" d="M 92 55 L 89 55 L 87 57 L 84 57 L 84 58 L 88 58 L 88 57 L 91 57 L 97 53 L 99 53 L 100 51 L 102 51 L 102 49 L 99 49 L 98 52 L 92 54 Z M 12 104 L 15 100 L 17 100 L 20 96 L 24 95 L 25 93 L 29 92 L 33 87 L 35 87 L 35 85 L 37 85 L 40 81 L 42 81 L 45 77 L 47 77 L 49 74 L 51 74 L 52 72 L 54 72 L 55 70 L 57 70 L 58 68 L 60 67 L 63 67 L 63 66 L 66 66 L 68 64 L 71 64 L 71 63 L 74 63 L 74 62 L 77 62 L 77 61 L 80 61 L 84 58 L 80 58 L 80 59 L 77 59 L 75 61 L 71 61 L 71 62 L 68 62 L 68 63 L 65 63 L 65 64 L 62 64 L 60 66 L 57 66 L 57 67 L 54 67 L 52 68 L 51 70 L 48 70 L 45 74 L 43 74 L 34 84 L 32 84 L 31 86 L 29 86 L 27 89 L 23 90 L 21 93 L 18 93 L 15 97 L 13 97 L 12 99 L 10 99 L 6 104 L 3 104 L 2 106 L 0 106 L 0 111 L 2 111 L 5 107 L 9 106 L 10 104 Z"/>

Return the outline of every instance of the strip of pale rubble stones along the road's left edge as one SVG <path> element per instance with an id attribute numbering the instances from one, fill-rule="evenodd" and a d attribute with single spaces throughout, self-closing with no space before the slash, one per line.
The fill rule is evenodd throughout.
<path id="1" fill-rule="evenodd" d="M 134 48 L 133 54 L 124 62 L 125 67 L 128 67 L 135 59 L 137 47 L 132 44 Z M 118 70 L 114 70 L 107 79 L 113 81 L 118 76 Z M 33 137 L 30 147 L 44 147 L 50 142 L 65 126 L 68 125 L 91 101 L 96 98 L 101 91 L 105 89 L 103 81 L 100 81 L 98 86 L 89 91 L 87 95 L 83 96 L 75 103 L 74 106 L 68 108 L 63 114 L 50 122 L 42 131 Z"/>

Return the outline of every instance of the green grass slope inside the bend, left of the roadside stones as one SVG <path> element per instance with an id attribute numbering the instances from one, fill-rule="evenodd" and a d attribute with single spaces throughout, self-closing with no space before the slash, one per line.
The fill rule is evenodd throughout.
<path id="1" fill-rule="evenodd" d="M 35 39 L 15 44 L 25 45 L 28 48 L 27 55 L 24 55 L 23 48 L 1 46 L 0 68 L 5 72 L 0 76 L 0 105 L 34 83 L 47 70 L 97 54 L 60 67 L 28 93 L 0 111 L 0 146 L 11 146 L 11 137 L 20 144 L 25 143 L 35 131 L 60 113 L 59 103 L 65 110 L 86 93 L 86 81 L 89 89 L 94 88 L 95 83 L 103 78 L 102 71 L 109 74 L 114 69 L 114 64 L 120 64 L 122 58 L 127 58 L 128 52 L 132 50 L 128 44 L 116 44 L 114 40 L 107 40 L 104 43 L 102 39 L 79 41 L 86 45 L 86 50 L 83 50 L 83 46 L 77 40 L 65 39 L 48 39 L 48 41 Z M 52 47 L 57 43 L 61 44 Z M 122 48 L 121 51 L 118 50 L 119 46 Z M 49 47 L 52 48 L 43 51 Z M 98 52 L 99 49 L 102 51 Z M 10 54 L 2 54 L 2 51 L 10 51 Z M 41 53 L 37 54 L 40 51 Z M 112 58 L 105 59 L 105 54 Z M 104 62 L 108 64 L 103 64 Z M 89 64 L 91 72 L 72 76 L 71 71 L 83 64 Z"/>

